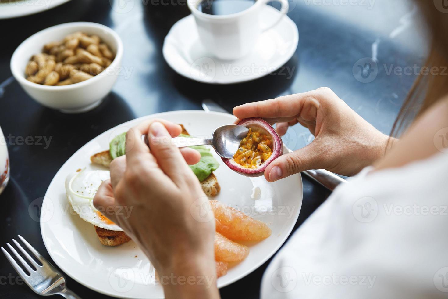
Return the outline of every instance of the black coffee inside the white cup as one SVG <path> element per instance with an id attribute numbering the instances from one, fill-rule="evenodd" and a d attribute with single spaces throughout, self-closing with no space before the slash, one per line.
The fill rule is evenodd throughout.
<path id="1" fill-rule="evenodd" d="M 198 10 L 216 16 L 239 13 L 254 5 L 255 0 L 202 0 Z"/>

